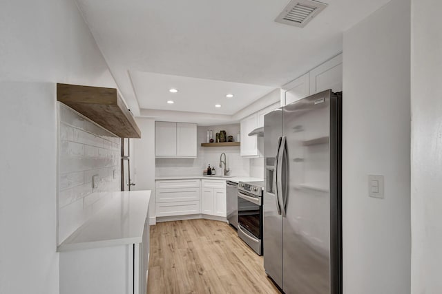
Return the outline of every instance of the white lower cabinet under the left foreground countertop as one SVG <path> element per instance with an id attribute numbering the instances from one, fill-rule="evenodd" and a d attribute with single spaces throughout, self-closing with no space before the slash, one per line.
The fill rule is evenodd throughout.
<path id="1" fill-rule="evenodd" d="M 60 294 L 144 294 L 148 254 L 148 218 L 142 243 L 62 251 L 59 254 Z"/>

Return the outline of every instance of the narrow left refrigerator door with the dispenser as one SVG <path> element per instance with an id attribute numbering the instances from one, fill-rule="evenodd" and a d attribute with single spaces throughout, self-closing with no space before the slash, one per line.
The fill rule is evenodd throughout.
<path id="1" fill-rule="evenodd" d="M 271 279 L 282 287 L 282 217 L 276 197 L 276 154 L 282 136 L 282 109 L 264 117 L 265 190 L 263 211 L 264 268 Z"/>

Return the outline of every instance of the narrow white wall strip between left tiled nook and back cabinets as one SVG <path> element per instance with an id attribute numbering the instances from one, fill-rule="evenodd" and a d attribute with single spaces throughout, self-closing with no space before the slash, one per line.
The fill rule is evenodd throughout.
<path id="1" fill-rule="evenodd" d="M 131 165 L 135 167 L 135 190 L 151 190 L 155 196 L 155 120 L 153 118 L 135 118 L 141 130 L 140 139 L 131 139 L 134 150 Z M 155 224 L 155 197 L 149 204 L 149 223 Z"/>

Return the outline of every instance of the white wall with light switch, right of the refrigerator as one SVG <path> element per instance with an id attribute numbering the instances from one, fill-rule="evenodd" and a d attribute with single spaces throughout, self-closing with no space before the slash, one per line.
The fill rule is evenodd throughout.
<path id="1" fill-rule="evenodd" d="M 392 0 L 344 34 L 343 293 L 410 293 L 410 252 L 410 1 Z"/>

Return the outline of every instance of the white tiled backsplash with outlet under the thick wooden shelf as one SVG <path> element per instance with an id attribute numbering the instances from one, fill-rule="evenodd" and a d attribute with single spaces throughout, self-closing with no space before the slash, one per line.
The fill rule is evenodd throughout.
<path id="1" fill-rule="evenodd" d="M 121 139 L 58 103 L 58 242 L 121 190 Z M 114 178 L 115 173 L 115 178 Z M 93 188 L 92 177 L 98 175 Z"/>

